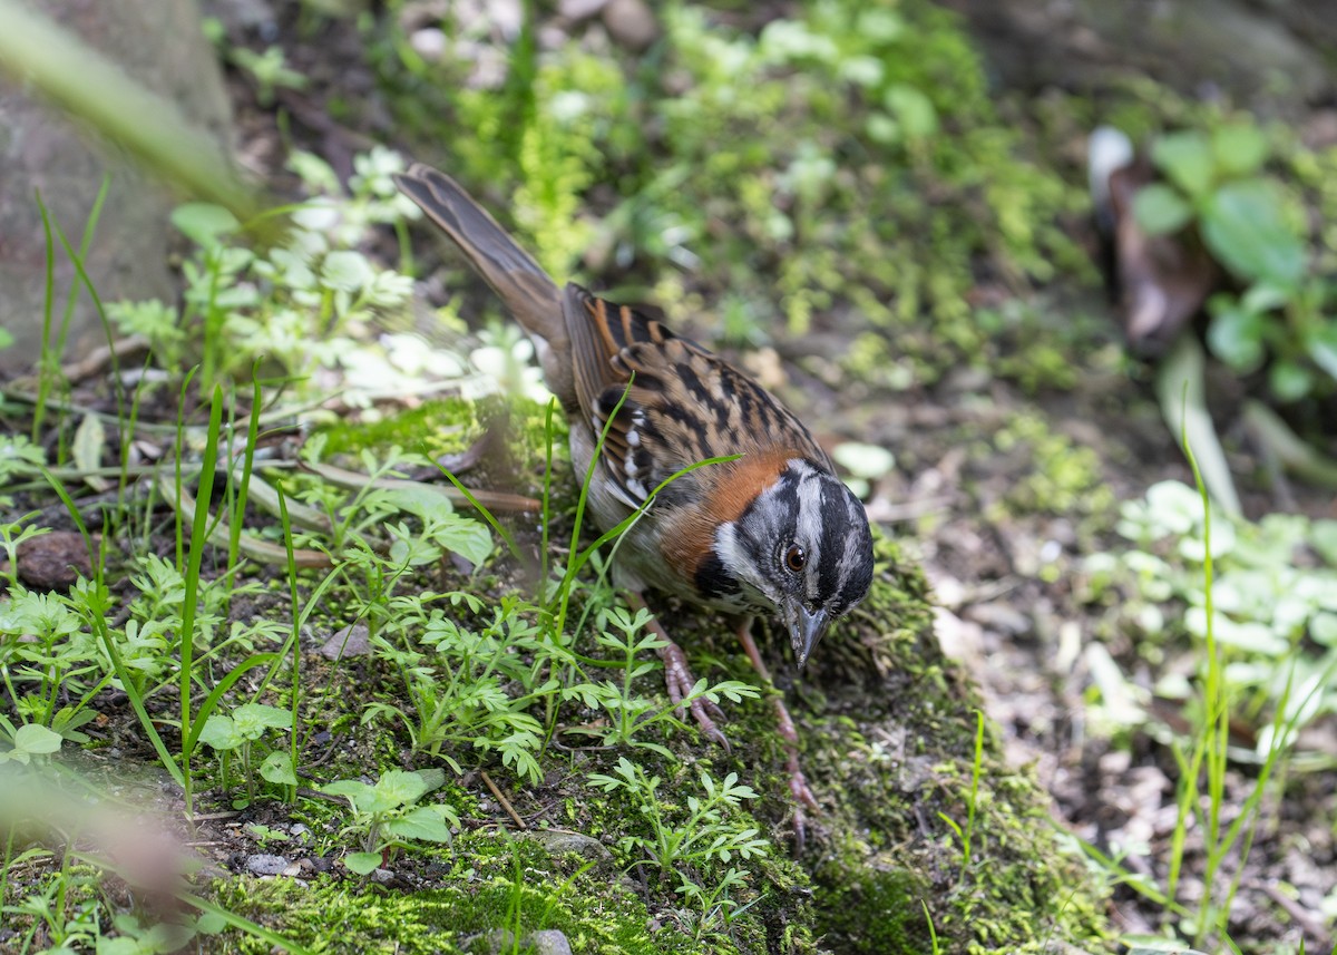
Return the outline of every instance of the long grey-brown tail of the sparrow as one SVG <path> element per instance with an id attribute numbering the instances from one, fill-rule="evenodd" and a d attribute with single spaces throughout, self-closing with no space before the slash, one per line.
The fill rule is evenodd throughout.
<path id="1" fill-rule="evenodd" d="M 559 354 L 568 350 L 556 282 L 460 183 L 431 166 L 413 163 L 408 173 L 394 177 L 394 185 L 460 246 L 529 334 Z"/>

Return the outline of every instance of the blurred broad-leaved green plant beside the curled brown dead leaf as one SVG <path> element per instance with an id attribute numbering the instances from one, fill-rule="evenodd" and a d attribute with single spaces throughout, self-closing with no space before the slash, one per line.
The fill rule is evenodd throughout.
<path id="1" fill-rule="evenodd" d="M 1151 234 L 1191 227 L 1245 285 L 1209 302 L 1207 344 L 1239 373 L 1269 362 L 1271 393 L 1298 401 L 1337 388 L 1334 289 L 1309 268 L 1304 215 L 1265 173 L 1269 154 L 1250 122 L 1166 134 L 1151 150 L 1166 182 L 1139 190 L 1132 210 Z"/>

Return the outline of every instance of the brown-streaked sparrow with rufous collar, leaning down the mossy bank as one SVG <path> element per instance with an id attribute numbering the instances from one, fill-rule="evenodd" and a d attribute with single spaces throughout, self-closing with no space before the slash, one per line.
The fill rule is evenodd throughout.
<path id="1" fill-rule="evenodd" d="M 570 423 L 571 461 L 594 464 L 588 504 L 602 530 L 639 508 L 615 578 L 644 606 L 648 590 L 741 615 L 739 638 L 762 679 L 751 615 L 773 614 L 802 667 L 832 621 L 868 594 L 873 538 L 864 506 L 813 435 L 751 377 L 662 322 L 568 282 L 559 286 L 451 177 L 421 163 L 396 185 L 460 247 L 535 341 L 548 389 Z M 673 475 L 693 464 L 711 463 Z M 652 500 L 651 500 L 652 498 Z M 647 507 L 648 504 L 648 507 Z M 670 700 L 694 679 L 658 622 Z M 789 746 L 796 831 L 817 809 L 797 758 L 797 733 L 774 697 Z M 727 748 L 711 713 L 690 706 Z"/>

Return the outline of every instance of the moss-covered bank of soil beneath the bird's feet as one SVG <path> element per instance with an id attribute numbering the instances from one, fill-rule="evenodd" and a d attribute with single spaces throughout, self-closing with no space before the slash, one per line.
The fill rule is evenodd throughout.
<path id="1" fill-rule="evenodd" d="M 443 413 L 463 433 L 476 431 L 471 404 L 451 403 Z M 527 461 L 519 469 L 521 486 L 539 486 L 544 416 L 527 407 L 511 420 L 507 456 Z M 350 436 L 345 431 L 344 439 Z M 386 423 L 369 437 L 400 443 Z M 555 469 L 554 539 L 562 539 L 563 524 L 570 531 L 574 482 L 560 455 Z M 532 516 L 512 522 L 521 550 L 536 535 L 535 524 Z M 976 746 L 977 700 L 932 634 L 920 570 L 885 536 L 877 540 L 877 558 L 869 598 L 833 629 L 806 671 L 796 673 L 782 641 L 763 634 L 778 692 L 800 724 L 804 769 L 822 804 L 797 857 L 770 690 L 758 685 L 735 646 L 731 622 L 670 606 L 664 622 L 689 649 L 698 675 L 761 690 L 758 698 L 723 701 L 729 752 L 703 742 L 694 729 L 668 724 L 647 730 L 646 745 L 571 745 L 568 730 L 594 725 L 600 714 L 578 700 L 563 702 L 539 753 L 536 781 L 515 774 L 495 754 L 441 749 L 441 757 L 460 766 L 459 773 L 448 770 L 447 785 L 432 796 L 449 801 L 461 819 L 449 847 L 418 847 L 370 879 L 336 863 L 305 881 L 214 881 L 211 895 L 314 951 L 524 951 L 531 940 L 541 942 L 531 935 L 539 930 L 563 932 L 575 952 L 890 955 L 935 951 L 935 934 L 936 951 L 1047 951 L 1058 942 L 1103 951 L 1100 897 L 1080 861 L 1060 848 L 1044 793 L 1025 770 L 1005 765 L 989 728 Z M 467 589 L 472 580 L 492 591 L 483 595 L 491 602 L 519 579 L 511 562 L 496 558 L 496 566 L 445 583 Z M 443 574 L 459 576 L 457 570 Z M 592 642 L 591 635 L 583 639 Z M 596 651 L 578 646 L 576 653 Z M 658 667 L 638 675 L 634 689 L 664 705 Z M 365 704 L 357 693 L 344 701 L 354 713 Z M 345 750 L 341 776 L 374 778 L 389 769 L 441 765 L 441 758 L 413 752 L 408 737 L 386 745 L 393 726 L 357 733 L 360 745 Z M 349 753 L 360 753 L 366 765 L 350 765 Z M 644 778 L 658 778 L 651 796 L 610 793 L 591 781 L 615 774 L 620 758 Z M 714 907 L 691 904 L 681 881 L 638 848 L 652 841 L 656 825 L 701 824 L 693 823 L 691 805 L 706 800 L 703 774 L 709 785 L 737 774 L 737 785 L 755 792 L 755 799 L 722 805 L 718 832 L 755 829 L 765 841 L 759 853 L 694 863 L 690 879 L 703 892 L 725 887 Z M 651 797 L 652 809 L 646 803 Z M 525 820 L 524 831 L 511 812 Z M 341 821 L 337 813 L 303 819 L 328 836 Z M 636 839 L 644 841 L 628 841 Z M 322 859 L 338 857 L 337 839 L 322 845 Z M 215 938 L 214 946 L 269 950 L 261 939 L 233 935 Z"/>

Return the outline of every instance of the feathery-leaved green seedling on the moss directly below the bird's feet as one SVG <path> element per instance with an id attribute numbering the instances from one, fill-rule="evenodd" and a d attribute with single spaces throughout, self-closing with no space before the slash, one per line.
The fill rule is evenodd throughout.
<path id="1" fill-rule="evenodd" d="M 623 836 L 618 845 L 632 867 L 651 864 L 660 880 L 677 883 L 674 891 L 695 907 L 698 939 L 717 919 L 727 926 L 742 911 L 734 892 L 746 885 L 747 876 L 733 863 L 761 859 L 769 849 L 755 827 L 734 816 L 743 800 L 757 799 L 751 786 L 738 784 L 737 773 L 717 782 L 703 772 L 701 794 L 687 797 L 685 817 L 659 790 L 660 778 L 624 756 L 618 757 L 612 774 L 591 773 L 590 782 L 622 793 L 644 817 L 648 833 Z"/>

